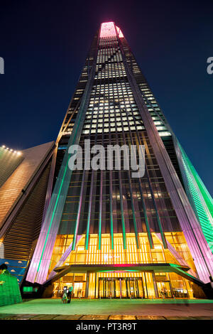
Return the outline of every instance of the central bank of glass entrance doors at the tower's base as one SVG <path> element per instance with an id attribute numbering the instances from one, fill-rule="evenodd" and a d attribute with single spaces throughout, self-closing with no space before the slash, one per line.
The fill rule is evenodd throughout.
<path id="1" fill-rule="evenodd" d="M 144 298 L 141 277 L 99 278 L 99 298 Z"/>

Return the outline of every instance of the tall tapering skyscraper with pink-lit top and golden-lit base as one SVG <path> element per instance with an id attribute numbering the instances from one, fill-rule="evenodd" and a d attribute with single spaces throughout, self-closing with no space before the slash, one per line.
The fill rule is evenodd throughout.
<path id="1" fill-rule="evenodd" d="M 145 147 L 144 176 L 69 168 L 84 141 Z M 105 159 L 107 160 L 107 156 Z M 124 163 L 124 156 L 123 156 Z M 213 274 L 212 198 L 114 22 L 102 23 L 52 159 L 43 224 L 26 281 L 60 296 L 202 296 Z"/>

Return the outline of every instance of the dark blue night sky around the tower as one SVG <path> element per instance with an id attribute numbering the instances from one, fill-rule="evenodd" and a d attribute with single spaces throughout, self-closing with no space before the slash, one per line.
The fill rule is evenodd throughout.
<path id="1" fill-rule="evenodd" d="M 0 145 L 58 135 L 99 24 L 124 33 L 170 126 L 213 194 L 213 1 L 1 1 Z"/>

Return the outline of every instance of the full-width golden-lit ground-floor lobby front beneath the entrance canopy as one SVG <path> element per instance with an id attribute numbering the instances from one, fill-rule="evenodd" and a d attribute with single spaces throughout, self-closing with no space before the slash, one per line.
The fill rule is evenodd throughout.
<path id="1" fill-rule="evenodd" d="M 94 271 L 68 273 L 54 282 L 53 297 L 73 287 L 72 298 L 193 298 L 190 281 L 173 272 Z"/>

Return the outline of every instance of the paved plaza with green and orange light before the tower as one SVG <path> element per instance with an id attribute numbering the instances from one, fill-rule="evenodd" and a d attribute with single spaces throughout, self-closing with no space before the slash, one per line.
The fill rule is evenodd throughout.
<path id="1" fill-rule="evenodd" d="M 213 301 L 204 299 L 89 300 L 33 299 L 2 306 L 0 319 L 32 320 L 213 320 Z"/>

